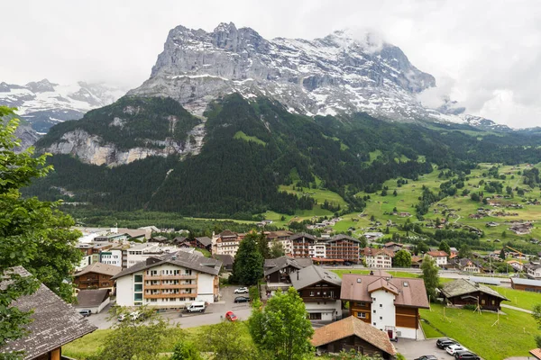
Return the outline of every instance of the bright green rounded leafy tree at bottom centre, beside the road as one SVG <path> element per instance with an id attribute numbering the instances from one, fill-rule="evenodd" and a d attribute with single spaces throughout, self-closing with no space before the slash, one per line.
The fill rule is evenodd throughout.
<path id="1" fill-rule="evenodd" d="M 314 329 L 293 287 L 287 293 L 276 293 L 264 308 L 261 302 L 254 302 L 248 324 L 255 345 L 273 359 L 300 360 L 313 350 L 310 338 Z"/>

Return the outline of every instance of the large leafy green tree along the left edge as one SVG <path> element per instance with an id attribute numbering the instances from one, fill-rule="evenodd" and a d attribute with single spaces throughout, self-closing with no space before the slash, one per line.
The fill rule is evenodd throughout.
<path id="1" fill-rule="evenodd" d="M 37 290 L 36 279 L 71 302 L 73 288 L 65 280 L 82 257 L 74 247 L 79 236 L 70 229 L 74 221 L 57 209 L 59 202 L 21 195 L 21 188 L 47 175 L 51 167 L 45 166 L 46 155 L 32 157 L 33 148 L 14 151 L 20 142 L 14 136 L 18 120 L 13 117 L 13 109 L 0 106 L 0 278 L 11 281 L 0 290 L 0 347 L 26 334 L 23 325 L 31 314 L 11 305 Z M 14 266 L 23 266 L 33 277 L 10 273 Z"/>

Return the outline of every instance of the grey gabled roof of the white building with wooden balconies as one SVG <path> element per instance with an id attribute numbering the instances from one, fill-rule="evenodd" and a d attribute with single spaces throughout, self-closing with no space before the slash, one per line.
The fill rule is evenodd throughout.
<path id="1" fill-rule="evenodd" d="M 220 260 L 216 260 L 211 257 L 204 257 L 198 251 L 194 251 L 193 253 L 179 251 L 177 253 L 166 254 L 161 257 L 149 257 L 147 261 L 141 261 L 134 266 L 128 267 L 119 274 L 113 276 L 111 279 L 119 279 L 125 275 L 132 275 L 133 273 L 137 273 L 154 266 L 160 266 L 162 264 L 182 266 L 210 275 L 218 275 L 220 273 L 220 268 L 222 267 L 222 262 Z"/>

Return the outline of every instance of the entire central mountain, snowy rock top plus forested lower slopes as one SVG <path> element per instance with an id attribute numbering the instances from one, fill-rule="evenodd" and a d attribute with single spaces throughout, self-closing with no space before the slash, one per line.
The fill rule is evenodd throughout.
<path id="1" fill-rule="evenodd" d="M 356 194 L 391 178 L 541 158 L 538 130 L 511 130 L 450 101 L 426 108 L 417 96 L 433 86 L 434 76 L 371 35 L 265 40 L 233 23 L 178 26 L 141 86 L 38 140 L 55 172 L 28 193 L 113 211 L 252 219 L 362 211 Z M 286 185 L 337 193 L 346 205 Z"/>

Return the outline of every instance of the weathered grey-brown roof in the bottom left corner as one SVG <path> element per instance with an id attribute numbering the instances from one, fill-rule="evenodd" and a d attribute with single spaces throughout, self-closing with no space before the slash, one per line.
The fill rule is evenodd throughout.
<path id="1" fill-rule="evenodd" d="M 14 267 L 13 272 L 31 275 L 22 266 Z M 13 305 L 21 311 L 33 311 L 32 322 L 26 325 L 30 334 L 8 342 L 0 349 L 1 353 L 24 351 L 24 359 L 33 359 L 97 329 L 43 284 L 35 293 L 21 296 Z"/>

